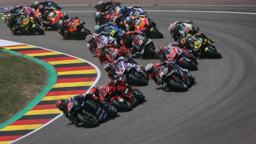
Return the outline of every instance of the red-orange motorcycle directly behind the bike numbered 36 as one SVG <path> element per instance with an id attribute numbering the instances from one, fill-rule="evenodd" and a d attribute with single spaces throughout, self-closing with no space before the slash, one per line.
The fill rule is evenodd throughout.
<path id="1" fill-rule="evenodd" d="M 105 23 L 113 22 L 116 23 L 117 26 L 119 26 L 122 29 L 126 29 L 125 26 L 125 17 L 121 14 L 118 14 L 117 12 L 114 11 L 109 11 L 105 14 L 103 21 Z"/>

